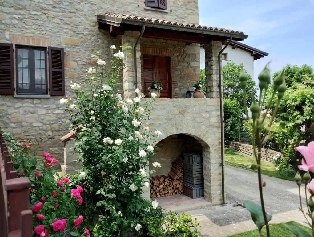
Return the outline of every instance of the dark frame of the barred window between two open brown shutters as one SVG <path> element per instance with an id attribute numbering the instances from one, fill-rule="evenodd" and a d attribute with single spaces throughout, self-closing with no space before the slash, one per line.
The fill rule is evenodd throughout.
<path id="1" fill-rule="evenodd" d="M 45 93 L 35 93 L 31 89 L 29 89 L 29 93 L 21 92 L 19 93 L 19 65 L 18 65 L 18 49 L 39 49 L 45 52 L 45 83 L 46 83 L 46 92 Z M 48 63 L 47 63 L 47 47 L 39 47 L 39 46 L 28 46 L 28 45 L 15 45 L 14 47 L 15 53 L 15 75 L 16 75 L 16 95 L 48 95 Z M 34 59 L 35 63 L 35 59 Z M 35 80 L 35 78 L 34 78 Z"/>

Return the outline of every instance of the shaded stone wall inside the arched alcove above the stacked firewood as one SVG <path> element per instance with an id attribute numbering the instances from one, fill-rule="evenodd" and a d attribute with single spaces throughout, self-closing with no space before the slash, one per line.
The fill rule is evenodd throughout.
<path id="1" fill-rule="evenodd" d="M 174 134 L 156 144 L 153 159 L 149 162 L 149 169 L 154 169 L 152 166 L 153 162 L 158 162 L 161 164 L 161 168 L 155 169 L 156 172 L 151 174 L 155 175 L 165 175 L 171 169 L 171 162 L 175 161 L 176 158 L 181 156 L 183 158 L 183 153 L 194 152 L 202 155 L 202 145 L 193 137 L 186 134 Z"/>

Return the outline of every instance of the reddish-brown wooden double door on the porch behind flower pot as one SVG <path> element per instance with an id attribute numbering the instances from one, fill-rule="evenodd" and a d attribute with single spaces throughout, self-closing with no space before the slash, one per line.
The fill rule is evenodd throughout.
<path id="1" fill-rule="evenodd" d="M 151 81 L 162 83 L 160 98 L 170 98 L 170 58 L 143 55 L 144 94 L 148 96 Z"/>

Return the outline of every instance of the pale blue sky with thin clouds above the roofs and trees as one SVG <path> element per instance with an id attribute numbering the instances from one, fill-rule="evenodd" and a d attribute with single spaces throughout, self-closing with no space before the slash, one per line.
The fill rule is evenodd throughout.
<path id="1" fill-rule="evenodd" d="M 254 80 L 270 62 L 314 67 L 314 0 L 198 0 L 201 25 L 243 31 L 241 41 L 269 55 L 254 61 Z"/>

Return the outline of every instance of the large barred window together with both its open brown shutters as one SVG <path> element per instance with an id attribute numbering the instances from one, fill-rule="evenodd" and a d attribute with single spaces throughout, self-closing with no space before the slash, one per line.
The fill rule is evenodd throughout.
<path id="1" fill-rule="evenodd" d="M 15 53 L 16 88 L 14 88 Z M 48 47 L 49 93 L 65 95 L 63 48 Z M 47 48 L 0 43 L 0 95 L 43 97 L 48 94 Z"/>

